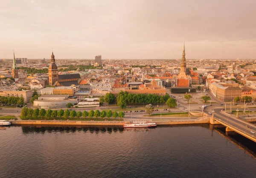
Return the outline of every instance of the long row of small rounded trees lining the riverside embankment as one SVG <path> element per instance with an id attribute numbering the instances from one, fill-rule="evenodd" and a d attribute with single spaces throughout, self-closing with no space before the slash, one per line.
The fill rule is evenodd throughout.
<path id="1" fill-rule="evenodd" d="M 51 109 L 48 109 L 48 110 L 45 110 L 45 109 L 32 109 L 32 108 L 23 108 L 21 110 L 21 113 L 20 113 L 21 117 L 24 117 L 26 119 L 27 116 L 29 116 L 29 118 L 38 118 L 38 117 L 41 117 L 43 119 L 43 117 L 46 117 L 46 118 L 56 118 L 56 117 L 59 117 L 59 118 L 62 118 L 64 117 L 65 119 L 71 117 L 71 118 L 81 118 L 82 116 L 84 118 L 96 118 L 98 119 L 99 117 L 100 118 L 123 118 L 125 113 L 124 112 L 112 112 L 111 110 L 108 110 L 107 112 L 105 111 L 102 111 L 100 112 L 98 109 L 97 110 L 90 110 L 89 112 L 87 111 L 84 111 L 84 112 L 81 112 L 81 111 L 78 111 L 76 112 L 75 110 L 68 110 L 66 109 L 65 111 L 63 109 L 60 109 L 60 110 L 51 110 Z"/>

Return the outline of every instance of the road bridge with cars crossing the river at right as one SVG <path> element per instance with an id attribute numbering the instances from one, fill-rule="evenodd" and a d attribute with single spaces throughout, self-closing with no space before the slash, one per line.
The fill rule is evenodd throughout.
<path id="1" fill-rule="evenodd" d="M 256 142 L 256 126 L 254 124 L 221 112 L 221 109 L 215 109 L 215 112 L 213 112 L 210 118 L 210 123 L 212 125 L 222 124 L 226 126 L 226 132 L 234 131 Z M 255 132 L 255 134 L 251 131 Z"/>

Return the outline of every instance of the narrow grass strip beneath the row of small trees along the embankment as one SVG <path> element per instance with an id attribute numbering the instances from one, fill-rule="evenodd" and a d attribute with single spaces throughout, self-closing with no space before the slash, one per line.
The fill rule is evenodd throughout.
<path id="1" fill-rule="evenodd" d="M 29 116 L 27 116 L 26 119 L 25 119 L 24 117 L 20 116 L 20 118 L 21 118 L 22 120 L 29 120 L 29 119 L 31 119 L 31 120 L 42 120 L 42 117 L 38 117 L 38 118 L 32 117 L 32 118 L 30 118 Z M 84 117 L 81 117 L 81 118 L 79 119 L 79 118 L 70 118 L 70 117 L 69 117 L 69 118 L 67 118 L 67 119 L 69 119 L 70 121 L 90 121 L 90 120 L 93 120 L 93 121 L 105 121 L 105 120 L 107 120 L 107 121 L 123 121 L 123 119 L 118 119 L 118 118 L 116 118 L 116 119 L 114 119 L 114 118 L 110 118 L 110 119 L 105 118 L 105 120 L 104 120 L 104 119 L 102 119 L 102 118 L 96 119 L 96 118 L 84 118 Z M 57 121 L 60 121 L 60 120 L 62 120 L 62 121 L 67 121 L 67 119 L 56 117 L 56 120 L 57 120 Z M 52 120 L 54 120 L 54 118 L 46 118 L 46 117 L 43 117 L 43 120 L 52 121 Z"/>

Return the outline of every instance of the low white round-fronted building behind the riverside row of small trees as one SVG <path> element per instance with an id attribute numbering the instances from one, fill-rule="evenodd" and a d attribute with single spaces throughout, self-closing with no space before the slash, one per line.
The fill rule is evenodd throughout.
<path id="1" fill-rule="evenodd" d="M 67 103 L 77 104 L 76 99 L 69 99 L 68 95 L 41 95 L 34 100 L 33 106 L 44 109 L 65 108 Z"/>

